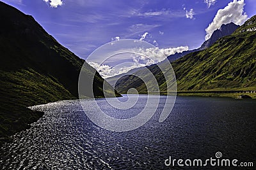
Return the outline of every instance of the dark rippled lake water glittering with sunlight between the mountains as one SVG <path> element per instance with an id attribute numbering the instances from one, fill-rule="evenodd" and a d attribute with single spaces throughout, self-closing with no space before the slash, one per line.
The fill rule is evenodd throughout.
<path id="1" fill-rule="evenodd" d="M 99 104 L 112 117 L 133 117 L 146 99 L 140 96 L 128 112 L 111 110 L 105 99 Z M 4 144 L 0 169 L 170 169 L 164 165 L 170 156 L 205 160 L 215 158 L 216 152 L 225 159 L 256 164 L 256 102 L 250 99 L 177 97 L 164 122 L 159 122 L 157 111 L 145 125 L 129 132 L 93 124 L 78 100 L 34 109 L 45 111 L 44 117 L 15 134 L 13 143 Z"/>

